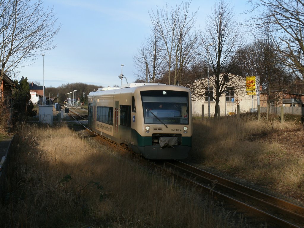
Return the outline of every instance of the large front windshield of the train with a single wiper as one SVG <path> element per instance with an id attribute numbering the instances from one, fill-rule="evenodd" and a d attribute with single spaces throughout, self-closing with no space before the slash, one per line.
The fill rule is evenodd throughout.
<path id="1" fill-rule="evenodd" d="M 188 124 L 188 92 L 141 91 L 145 124 Z"/>

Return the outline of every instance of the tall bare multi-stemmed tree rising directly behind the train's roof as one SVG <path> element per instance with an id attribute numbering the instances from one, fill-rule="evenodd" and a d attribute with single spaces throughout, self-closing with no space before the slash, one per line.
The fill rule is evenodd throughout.
<path id="1" fill-rule="evenodd" d="M 171 84 L 171 72 L 174 72 L 173 85 L 188 65 L 194 62 L 198 50 L 198 33 L 193 31 L 196 14 L 189 12 L 191 1 L 176 5 L 175 8 L 158 9 L 150 13 L 152 25 L 162 38 L 166 60 L 168 61 L 168 82 Z M 165 72 L 164 72 L 165 73 Z"/>

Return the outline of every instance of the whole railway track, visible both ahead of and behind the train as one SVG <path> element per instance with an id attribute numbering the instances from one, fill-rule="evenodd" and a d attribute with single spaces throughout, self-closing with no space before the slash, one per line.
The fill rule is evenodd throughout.
<path id="1" fill-rule="evenodd" d="M 86 124 L 83 124 L 86 120 L 85 117 L 78 115 L 74 111 L 70 110 L 70 112 L 73 113 L 72 115 L 70 114 L 71 118 L 90 131 Z M 77 120 L 79 118 L 82 120 Z M 125 147 L 113 144 L 106 138 L 102 139 L 110 146 L 126 151 Z M 153 161 L 151 164 L 156 165 L 158 168 L 166 169 L 168 172 L 186 180 L 188 184 L 192 184 L 206 192 L 211 191 L 213 197 L 234 205 L 243 212 L 262 218 L 267 223 L 275 224 L 276 227 L 304 227 L 304 208 L 301 206 L 240 185 L 181 161 L 165 161 L 164 164 L 157 164 Z"/>

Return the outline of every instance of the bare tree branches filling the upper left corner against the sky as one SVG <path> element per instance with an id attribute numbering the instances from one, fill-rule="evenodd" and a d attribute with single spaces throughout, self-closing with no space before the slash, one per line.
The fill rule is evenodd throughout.
<path id="1" fill-rule="evenodd" d="M 40 0 L 0 0 L 0 13 L 1 76 L 55 47 L 60 26 L 55 27 L 53 9 L 44 10 Z"/>

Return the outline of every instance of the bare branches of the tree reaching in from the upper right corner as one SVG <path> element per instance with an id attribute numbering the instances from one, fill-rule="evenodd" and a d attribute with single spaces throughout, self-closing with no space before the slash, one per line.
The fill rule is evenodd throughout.
<path id="1" fill-rule="evenodd" d="M 281 60 L 295 74 L 304 75 L 304 2 L 302 0 L 250 0 L 256 12 L 250 20 L 256 29 L 271 24 Z M 252 10 L 252 11 L 253 11 Z"/>

